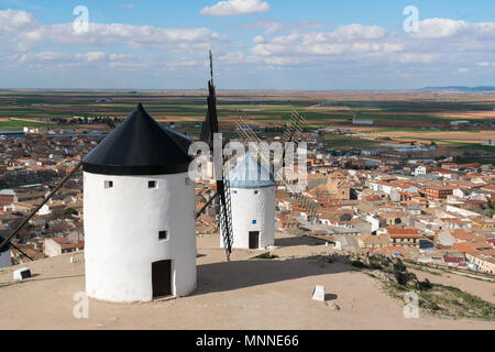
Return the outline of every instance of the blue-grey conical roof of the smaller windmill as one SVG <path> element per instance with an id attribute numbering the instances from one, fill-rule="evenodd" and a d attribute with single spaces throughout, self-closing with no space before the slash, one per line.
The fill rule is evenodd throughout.
<path id="1" fill-rule="evenodd" d="M 252 154 L 246 154 L 243 160 L 230 170 L 229 180 L 231 188 L 262 188 L 275 186 L 273 174 L 268 166 L 262 165 Z"/>

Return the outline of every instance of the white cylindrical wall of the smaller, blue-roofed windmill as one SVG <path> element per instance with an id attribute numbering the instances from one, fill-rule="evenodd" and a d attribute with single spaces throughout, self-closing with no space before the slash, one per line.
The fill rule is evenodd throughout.
<path id="1" fill-rule="evenodd" d="M 257 190 L 257 194 L 254 191 Z M 231 188 L 234 249 L 249 249 L 250 231 L 260 231 L 260 249 L 275 243 L 275 186 Z M 256 220 L 256 223 L 253 223 Z M 223 248 L 223 237 L 220 237 Z"/>

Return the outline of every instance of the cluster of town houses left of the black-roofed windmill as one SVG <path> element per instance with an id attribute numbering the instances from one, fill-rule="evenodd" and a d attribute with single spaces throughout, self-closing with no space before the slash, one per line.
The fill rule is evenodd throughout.
<path id="1" fill-rule="evenodd" d="M 3 139 L 0 144 L 0 235 L 7 238 L 33 211 L 79 158 L 99 141 L 97 136 Z M 51 198 L 13 239 L 32 258 L 84 249 L 82 177 L 76 174 Z M 11 249 L 12 263 L 28 262 Z"/>

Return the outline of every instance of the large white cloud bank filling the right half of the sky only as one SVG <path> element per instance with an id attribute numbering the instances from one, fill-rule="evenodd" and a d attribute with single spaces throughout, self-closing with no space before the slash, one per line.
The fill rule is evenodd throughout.
<path id="1" fill-rule="evenodd" d="M 442 24 L 446 28 L 437 28 Z M 293 31 L 264 38 L 255 42 L 251 52 L 266 63 L 288 66 L 328 67 L 339 63 L 363 69 L 365 64 L 400 72 L 408 67 L 461 67 L 460 73 L 468 73 L 462 68 L 495 59 L 494 25 L 432 19 L 424 21 L 422 34 L 409 35 L 376 25 L 349 24 L 334 31 Z"/>

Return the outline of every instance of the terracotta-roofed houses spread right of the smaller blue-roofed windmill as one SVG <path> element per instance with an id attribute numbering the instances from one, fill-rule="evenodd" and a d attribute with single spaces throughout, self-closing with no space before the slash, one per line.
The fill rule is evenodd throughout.
<path id="1" fill-rule="evenodd" d="M 415 175 L 418 167 L 425 169 L 421 176 Z M 322 185 L 307 193 L 318 204 L 312 226 L 305 224 L 305 209 L 278 190 L 282 231 L 302 227 L 324 232 L 319 238 L 339 246 L 346 243 L 350 251 L 377 251 L 495 274 L 491 165 L 450 162 L 418 165 L 409 173 L 331 166 L 317 170 L 310 178 L 322 179 Z"/>

